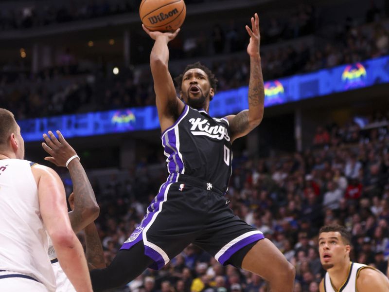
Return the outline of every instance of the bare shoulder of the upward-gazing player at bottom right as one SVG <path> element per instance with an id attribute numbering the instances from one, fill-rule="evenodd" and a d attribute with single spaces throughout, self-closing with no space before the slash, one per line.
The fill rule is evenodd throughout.
<path id="1" fill-rule="evenodd" d="M 388 292 L 389 279 L 378 270 L 365 268 L 356 279 L 358 292 Z"/>

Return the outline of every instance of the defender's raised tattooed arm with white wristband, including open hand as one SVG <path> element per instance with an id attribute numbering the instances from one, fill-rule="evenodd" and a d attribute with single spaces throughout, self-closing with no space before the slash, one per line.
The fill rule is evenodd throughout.
<path id="1" fill-rule="evenodd" d="M 43 135 L 45 142 L 42 143 L 42 147 L 51 156 L 45 157 L 45 160 L 57 166 L 66 166 L 68 159 L 77 155 L 77 153 L 65 140 L 60 131 L 57 131 L 58 139 L 52 131 L 49 131 L 48 134 Z M 89 183 L 88 176 L 80 161 L 78 159 L 71 160 L 68 168 L 71 182 L 73 183 L 73 192 L 76 193 L 74 197 L 74 210 L 69 212 L 69 218 L 71 227 L 75 233 L 78 233 L 97 219 L 100 208 L 96 202 L 96 197 Z"/>

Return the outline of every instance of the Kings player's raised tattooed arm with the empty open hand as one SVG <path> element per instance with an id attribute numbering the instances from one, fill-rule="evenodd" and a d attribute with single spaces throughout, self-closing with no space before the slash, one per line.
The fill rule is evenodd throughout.
<path id="1" fill-rule="evenodd" d="M 250 35 L 250 42 L 247 47 L 247 53 L 250 56 L 248 110 L 243 110 L 237 115 L 227 117 L 230 122 L 231 141 L 247 135 L 261 123 L 264 116 L 265 90 L 259 53 L 261 36 L 259 33 L 258 14 L 251 18 L 251 29 L 246 25 L 246 30 Z"/>

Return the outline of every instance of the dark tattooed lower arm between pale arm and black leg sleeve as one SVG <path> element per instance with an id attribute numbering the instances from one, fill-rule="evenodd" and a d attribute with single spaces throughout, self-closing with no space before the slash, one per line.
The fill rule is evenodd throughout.
<path id="1" fill-rule="evenodd" d="M 89 270 L 105 268 L 106 261 L 104 258 L 103 247 L 94 223 L 90 223 L 85 228 L 85 242 L 87 246 L 85 256 L 87 257 Z"/>

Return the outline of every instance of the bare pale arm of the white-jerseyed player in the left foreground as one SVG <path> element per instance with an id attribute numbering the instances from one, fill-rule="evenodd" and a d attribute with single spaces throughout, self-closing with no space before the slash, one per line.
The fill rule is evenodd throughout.
<path id="1" fill-rule="evenodd" d="M 42 165 L 35 165 L 32 172 L 38 186 L 40 214 L 63 271 L 77 291 L 92 291 L 84 250 L 71 229 L 61 179 L 53 169 Z"/>

